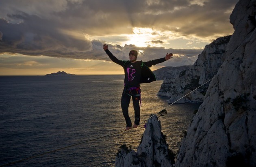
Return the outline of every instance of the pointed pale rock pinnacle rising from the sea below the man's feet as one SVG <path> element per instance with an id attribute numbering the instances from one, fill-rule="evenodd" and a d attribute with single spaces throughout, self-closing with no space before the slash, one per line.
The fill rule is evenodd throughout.
<path id="1" fill-rule="evenodd" d="M 115 158 L 116 167 L 170 167 L 174 163 L 174 154 L 168 149 L 156 115 L 148 120 L 137 152 L 126 145 L 120 148 Z"/>

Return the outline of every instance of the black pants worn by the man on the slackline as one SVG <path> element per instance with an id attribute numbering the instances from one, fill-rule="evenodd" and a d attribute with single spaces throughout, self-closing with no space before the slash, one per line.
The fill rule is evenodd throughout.
<path id="1" fill-rule="evenodd" d="M 123 111 L 124 119 L 126 121 L 126 127 L 132 127 L 132 122 L 130 120 L 129 112 L 128 112 L 131 97 L 132 97 L 132 103 L 133 103 L 133 109 L 134 109 L 134 115 L 135 115 L 134 123 L 136 125 L 139 125 L 139 121 L 140 121 L 140 105 L 139 105 L 140 95 L 136 93 L 136 90 L 131 92 L 124 90 L 121 97 L 121 108 Z"/>

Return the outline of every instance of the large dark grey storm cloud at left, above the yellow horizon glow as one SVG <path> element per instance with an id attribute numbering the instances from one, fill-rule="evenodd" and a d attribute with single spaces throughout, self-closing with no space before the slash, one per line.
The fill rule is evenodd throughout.
<path id="1" fill-rule="evenodd" d="M 22 19 L 21 23 L 9 23 L 0 19 L 0 53 L 10 52 L 24 55 L 66 56 L 91 49 L 91 42 L 75 39 L 59 30 L 61 23 L 42 19 L 37 15 L 19 12 L 8 15 L 11 19 Z"/>

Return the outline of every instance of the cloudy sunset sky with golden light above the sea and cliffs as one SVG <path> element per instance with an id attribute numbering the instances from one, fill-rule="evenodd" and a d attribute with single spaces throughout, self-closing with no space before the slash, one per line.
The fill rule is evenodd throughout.
<path id="1" fill-rule="evenodd" d="M 123 74 L 129 51 L 152 66 L 194 64 L 205 45 L 232 35 L 238 0 L 0 0 L 0 75 Z"/>

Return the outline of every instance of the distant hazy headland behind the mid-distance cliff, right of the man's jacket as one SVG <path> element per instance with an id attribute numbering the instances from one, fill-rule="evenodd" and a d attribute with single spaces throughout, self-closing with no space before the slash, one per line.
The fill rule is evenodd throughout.
<path id="1" fill-rule="evenodd" d="M 192 65 L 178 67 L 162 67 L 161 69 L 153 71 L 153 73 L 156 76 L 156 80 L 163 80 L 165 78 L 176 78 L 181 71 L 187 71 L 191 66 Z"/>

